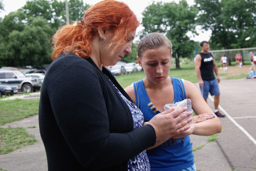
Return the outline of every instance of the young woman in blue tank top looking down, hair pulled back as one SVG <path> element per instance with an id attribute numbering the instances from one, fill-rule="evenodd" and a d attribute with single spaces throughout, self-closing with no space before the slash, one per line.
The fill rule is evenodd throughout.
<path id="1" fill-rule="evenodd" d="M 158 141 L 147 149 L 147 154 L 152 171 L 194 171 L 189 135 L 214 135 L 220 133 L 222 127 L 194 84 L 169 76 L 171 56 L 172 43 L 168 38 L 159 33 L 144 36 L 138 44 L 137 61 L 146 77 L 126 87 L 125 91 L 140 108 L 145 120 L 164 111 L 167 103 L 191 99 L 192 109 L 197 114 L 193 116 L 193 127 L 170 139 Z"/>

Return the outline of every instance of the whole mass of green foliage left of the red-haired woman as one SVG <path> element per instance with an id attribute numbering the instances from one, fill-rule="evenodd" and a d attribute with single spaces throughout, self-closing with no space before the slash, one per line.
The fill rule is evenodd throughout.
<path id="1" fill-rule="evenodd" d="M 80 20 L 88 4 L 69 0 L 70 20 Z M 50 38 L 66 22 L 65 3 L 32 0 L 0 20 L 0 67 L 51 63 Z"/>

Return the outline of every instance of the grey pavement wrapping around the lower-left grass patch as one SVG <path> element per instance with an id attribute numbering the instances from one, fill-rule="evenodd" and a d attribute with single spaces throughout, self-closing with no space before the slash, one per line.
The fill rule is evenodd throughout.
<path id="1" fill-rule="evenodd" d="M 3 127 L 8 126 L 26 128 L 28 133 L 35 136 L 38 143 L 0 155 L 0 168 L 7 171 L 47 171 L 46 153 L 39 132 L 38 115 L 7 123 Z"/>

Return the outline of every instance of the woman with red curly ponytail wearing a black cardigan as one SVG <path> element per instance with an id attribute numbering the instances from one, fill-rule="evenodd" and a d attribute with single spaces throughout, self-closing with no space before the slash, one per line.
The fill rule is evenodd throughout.
<path id="1" fill-rule="evenodd" d="M 191 113 L 178 116 L 186 107 L 143 126 L 140 109 L 104 68 L 131 54 L 139 24 L 126 4 L 104 0 L 52 37 L 53 62 L 39 104 L 49 171 L 147 171 L 145 149 L 189 128 L 182 125 Z"/>

